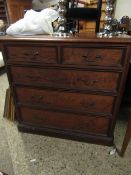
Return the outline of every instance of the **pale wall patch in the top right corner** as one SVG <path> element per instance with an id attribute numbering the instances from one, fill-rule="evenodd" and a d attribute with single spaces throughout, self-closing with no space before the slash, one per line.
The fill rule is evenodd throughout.
<path id="1" fill-rule="evenodd" d="M 117 0 L 115 18 L 121 19 L 123 16 L 131 18 L 131 0 Z"/>

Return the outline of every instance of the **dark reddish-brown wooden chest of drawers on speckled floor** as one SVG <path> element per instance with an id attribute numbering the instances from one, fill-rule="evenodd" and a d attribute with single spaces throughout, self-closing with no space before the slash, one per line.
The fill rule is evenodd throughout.
<path id="1" fill-rule="evenodd" d="M 131 39 L 1 37 L 20 131 L 112 145 Z"/>

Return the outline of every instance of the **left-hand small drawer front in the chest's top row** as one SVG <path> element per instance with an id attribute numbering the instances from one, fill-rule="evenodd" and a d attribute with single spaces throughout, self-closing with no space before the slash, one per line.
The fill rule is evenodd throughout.
<path id="1" fill-rule="evenodd" d="M 13 61 L 57 63 L 57 47 L 8 46 L 8 58 Z"/>

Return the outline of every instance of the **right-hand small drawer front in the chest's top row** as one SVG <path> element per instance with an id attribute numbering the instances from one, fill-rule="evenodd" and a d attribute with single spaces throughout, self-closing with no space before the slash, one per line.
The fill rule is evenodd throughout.
<path id="1" fill-rule="evenodd" d="M 63 64 L 122 66 L 124 49 L 116 48 L 63 48 Z"/>

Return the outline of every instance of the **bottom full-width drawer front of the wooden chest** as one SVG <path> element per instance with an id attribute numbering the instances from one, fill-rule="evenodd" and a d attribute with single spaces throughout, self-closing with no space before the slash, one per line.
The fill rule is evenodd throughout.
<path id="1" fill-rule="evenodd" d="M 110 124 L 110 119 L 105 117 L 58 113 L 25 107 L 20 108 L 20 120 L 22 123 L 34 126 L 105 135 Z"/>

